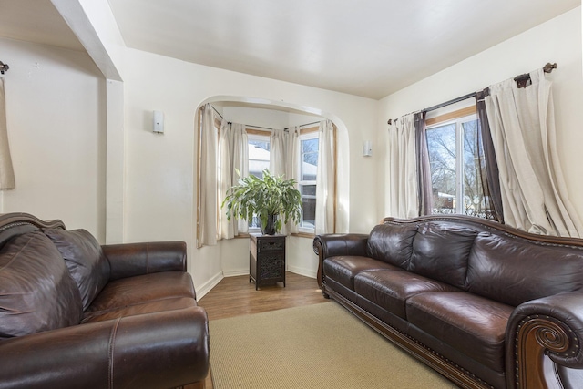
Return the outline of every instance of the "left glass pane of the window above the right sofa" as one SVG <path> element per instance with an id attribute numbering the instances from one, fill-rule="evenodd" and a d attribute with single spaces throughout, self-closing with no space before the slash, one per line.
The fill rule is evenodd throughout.
<path id="1" fill-rule="evenodd" d="M 455 212 L 455 123 L 427 129 L 433 213 Z"/>

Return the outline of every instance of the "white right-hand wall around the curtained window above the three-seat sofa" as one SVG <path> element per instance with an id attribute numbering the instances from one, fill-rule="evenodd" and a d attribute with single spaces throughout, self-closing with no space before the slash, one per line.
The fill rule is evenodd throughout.
<path id="1" fill-rule="evenodd" d="M 388 118 L 397 118 L 464 96 L 543 67 L 547 62 L 558 64 L 558 68 L 548 76 L 554 83 L 558 155 L 567 180 L 570 200 L 583 220 L 583 168 L 580 162 L 580 149 L 583 144 L 580 7 L 382 99 L 378 143 L 383 147 L 380 150 L 383 156 L 379 160 L 384 160 L 386 154 Z M 386 182 L 386 174 L 381 164 L 379 181 Z M 388 210 L 388 206 L 384 202 L 383 188 L 379 189 L 378 209 L 382 214 L 383 210 Z"/>

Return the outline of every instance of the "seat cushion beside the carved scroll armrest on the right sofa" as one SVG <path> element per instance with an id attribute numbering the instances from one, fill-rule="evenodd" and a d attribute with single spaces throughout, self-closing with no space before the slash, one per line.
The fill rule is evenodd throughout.
<path id="1" fill-rule="evenodd" d="M 460 353 L 504 372 L 506 323 L 514 308 L 469 292 L 431 292 L 407 300 L 407 320 Z"/>

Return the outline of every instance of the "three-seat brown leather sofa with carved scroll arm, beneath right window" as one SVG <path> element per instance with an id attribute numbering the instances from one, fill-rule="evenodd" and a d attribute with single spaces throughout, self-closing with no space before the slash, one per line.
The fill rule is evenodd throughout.
<path id="1" fill-rule="evenodd" d="M 455 384 L 583 387 L 583 240 L 429 216 L 313 243 L 324 296 Z"/>

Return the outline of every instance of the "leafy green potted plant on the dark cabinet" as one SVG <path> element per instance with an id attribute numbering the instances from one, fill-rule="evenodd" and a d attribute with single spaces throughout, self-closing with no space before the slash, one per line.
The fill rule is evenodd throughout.
<path id="1" fill-rule="evenodd" d="M 295 184 L 295 179 L 273 176 L 265 169 L 262 179 L 253 175 L 239 179 L 239 184 L 227 191 L 221 208 L 227 206 L 228 220 L 234 216 L 251 221 L 257 215 L 261 232 L 273 235 L 281 230 L 281 220 L 301 220 L 302 195 Z"/>

